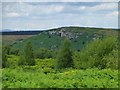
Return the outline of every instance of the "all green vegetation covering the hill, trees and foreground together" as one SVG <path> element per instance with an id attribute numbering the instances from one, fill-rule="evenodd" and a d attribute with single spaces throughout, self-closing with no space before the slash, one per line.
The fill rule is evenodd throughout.
<path id="1" fill-rule="evenodd" d="M 2 87 L 118 88 L 117 31 L 61 29 L 2 47 Z"/>

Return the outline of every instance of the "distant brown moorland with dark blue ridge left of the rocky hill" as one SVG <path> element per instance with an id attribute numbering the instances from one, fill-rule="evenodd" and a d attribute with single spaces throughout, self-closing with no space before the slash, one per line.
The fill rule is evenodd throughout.
<path id="1" fill-rule="evenodd" d="M 36 34 L 41 33 L 42 31 L 12 31 L 12 30 L 5 30 L 4 32 L 0 32 L 0 36 L 2 35 L 2 44 L 8 45 L 14 43 L 16 40 L 23 40 L 29 37 L 32 37 Z"/>

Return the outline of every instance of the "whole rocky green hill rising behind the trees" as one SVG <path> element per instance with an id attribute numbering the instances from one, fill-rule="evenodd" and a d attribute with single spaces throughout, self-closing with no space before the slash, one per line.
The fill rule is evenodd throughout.
<path id="1" fill-rule="evenodd" d="M 87 27 L 61 27 L 43 31 L 26 39 L 18 39 L 11 45 L 15 49 L 20 49 L 26 42 L 31 42 L 34 49 L 57 49 L 64 38 L 69 38 L 72 42 L 73 49 L 80 50 L 90 40 L 97 38 L 102 39 L 104 36 L 117 36 L 117 30 Z"/>

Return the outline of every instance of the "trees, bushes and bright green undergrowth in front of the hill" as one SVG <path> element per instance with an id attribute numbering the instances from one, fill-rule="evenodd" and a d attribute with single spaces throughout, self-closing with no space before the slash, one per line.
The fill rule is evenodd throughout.
<path id="1" fill-rule="evenodd" d="M 65 39 L 56 52 L 37 52 L 40 57 L 30 42 L 18 55 L 4 47 L 3 88 L 118 88 L 117 50 L 115 37 L 93 40 L 81 51 Z"/>

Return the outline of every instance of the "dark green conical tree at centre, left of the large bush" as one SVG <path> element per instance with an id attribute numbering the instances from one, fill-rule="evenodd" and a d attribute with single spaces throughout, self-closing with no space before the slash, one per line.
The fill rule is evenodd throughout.
<path id="1" fill-rule="evenodd" d="M 71 42 L 69 39 L 65 39 L 56 60 L 56 68 L 68 68 L 73 66 Z"/>

